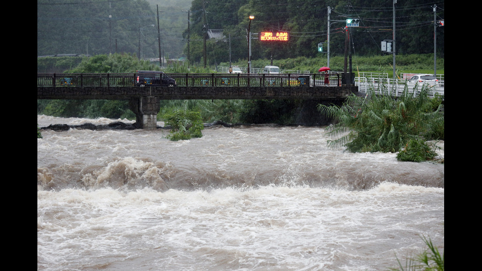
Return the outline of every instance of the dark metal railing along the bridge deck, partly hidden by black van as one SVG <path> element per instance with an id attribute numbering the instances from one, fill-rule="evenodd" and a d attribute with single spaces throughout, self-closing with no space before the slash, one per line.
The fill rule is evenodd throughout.
<path id="1" fill-rule="evenodd" d="M 37 73 L 37 87 L 129 87 L 132 73 Z M 179 87 L 341 86 L 341 74 L 193 74 L 164 73 Z"/>

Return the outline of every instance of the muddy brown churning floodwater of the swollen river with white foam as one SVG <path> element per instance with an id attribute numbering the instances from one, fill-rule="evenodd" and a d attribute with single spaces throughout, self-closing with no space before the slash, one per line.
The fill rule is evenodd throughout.
<path id="1" fill-rule="evenodd" d="M 38 270 L 371 271 L 422 237 L 444 251 L 444 164 L 329 149 L 324 127 L 167 133 L 42 130 Z"/>

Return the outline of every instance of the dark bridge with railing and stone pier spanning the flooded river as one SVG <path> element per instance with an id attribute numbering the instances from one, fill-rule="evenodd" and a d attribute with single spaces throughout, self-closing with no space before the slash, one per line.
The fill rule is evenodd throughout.
<path id="1" fill-rule="evenodd" d="M 145 74 L 37 73 L 37 99 L 129 100 L 137 123 L 155 129 L 160 100 L 165 99 L 300 99 L 340 102 L 358 93 L 342 84 L 341 74 L 166 74 L 176 86 L 142 82 Z M 150 81 L 150 82 L 149 82 Z M 153 82 L 153 83 L 152 83 Z M 325 84 L 328 83 L 328 84 Z"/>

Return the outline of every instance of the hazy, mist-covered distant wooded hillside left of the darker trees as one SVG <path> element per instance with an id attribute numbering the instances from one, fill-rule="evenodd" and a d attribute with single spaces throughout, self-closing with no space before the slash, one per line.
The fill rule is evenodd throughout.
<path id="1" fill-rule="evenodd" d="M 139 53 L 180 57 L 191 0 L 38 0 L 37 56 Z M 151 27 L 151 25 L 154 25 Z"/>

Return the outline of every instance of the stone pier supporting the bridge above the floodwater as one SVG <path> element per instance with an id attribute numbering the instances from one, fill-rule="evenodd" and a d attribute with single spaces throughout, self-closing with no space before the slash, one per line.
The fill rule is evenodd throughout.
<path id="1" fill-rule="evenodd" d="M 141 129 L 157 129 L 157 113 L 161 108 L 156 96 L 134 97 L 129 100 L 129 108 L 136 114 L 136 126 Z"/>

